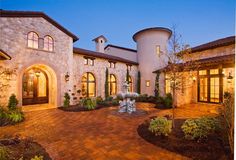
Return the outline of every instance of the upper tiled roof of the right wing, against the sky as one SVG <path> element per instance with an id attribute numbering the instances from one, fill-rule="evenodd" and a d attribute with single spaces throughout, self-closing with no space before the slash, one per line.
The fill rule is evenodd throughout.
<path id="1" fill-rule="evenodd" d="M 235 44 L 235 36 L 230 36 L 230 37 L 218 39 L 218 40 L 215 40 L 212 42 L 208 42 L 208 43 L 193 47 L 191 49 L 191 51 L 192 51 L 192 53 L 200 52 L 203 50 L 213 49 L 213 48 L 227 46 L 227 45 L 231 45 L 231 44 Z"/>

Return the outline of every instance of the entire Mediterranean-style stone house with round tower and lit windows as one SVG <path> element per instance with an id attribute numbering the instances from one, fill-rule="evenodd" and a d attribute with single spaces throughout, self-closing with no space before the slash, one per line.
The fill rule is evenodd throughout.
<path id="1" fill-rule="evenodd" d="M 159 91 L 170 92 L 163 54 L 172 31 L 155 27 L 133 35 L 137 50 L 108 44 L 101 35 L 96 50 L 73 47 L 79 38 L 42 12 L 0 11 L 0 104 L 16 94 L 19 105 L 63 104 L 68 92 L 71 103 L 79 97 L 104 97 L 105 71 L 109 70 L 109 94 L 122 90 L 129 70 L 130 91 L 136 92 L 138 72 L 141 94 L 154 95 L 156 71 Z M 198 71 L 187 75 L 177 94 L 178 105 L 221 103 L 223 93 L 234 87 L 235 36 L 192 48 Z"/>

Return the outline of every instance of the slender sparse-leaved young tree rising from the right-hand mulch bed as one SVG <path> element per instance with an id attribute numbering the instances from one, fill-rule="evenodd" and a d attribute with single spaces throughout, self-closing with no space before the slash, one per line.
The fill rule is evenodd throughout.
<path id="1" fill-rule="evenodd" d="M 191 49 L 189 45 L 182 43 L 181 35 L 176 32 L 176 26 L 172 27 L 172 36 L 169 40 L 168 52 L 165 53 L 167 58 L 167 67 L 165 69 L 169 76 L 170 88 L 172 92 L 172 127 L 175 126 L 175 105 L 177 91 L 183 88 L 184 83 L 184 73 L 190 72 L 198 69 L 198 61 L 196 59 L 191 59 Z M 187 59 L 186 59 L 187 57 Z"/>

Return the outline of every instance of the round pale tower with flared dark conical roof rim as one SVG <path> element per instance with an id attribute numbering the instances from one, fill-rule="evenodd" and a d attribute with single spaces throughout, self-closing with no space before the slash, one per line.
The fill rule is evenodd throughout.
<path id="1" fill-rule="evenodd" d="M 166 65 L 168 40 L 172 31 L 155 27 L 143 29 L 133 35 L 137 43 L 139 71 L 141 73 L 141 94 L 154 95 L 156 74 L 153 71 Z"/>

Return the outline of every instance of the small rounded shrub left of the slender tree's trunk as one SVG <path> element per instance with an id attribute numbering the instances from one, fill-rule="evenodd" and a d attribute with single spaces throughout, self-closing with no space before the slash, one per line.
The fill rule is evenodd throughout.
<path id="1" fill-rule="evenodd" d="M 151 120 L 148 129 L 156 136 L 168 136 L 171 133 L 171 128 L 171 120 L 167 120 L 166 117 L 157 117 Z"/>

